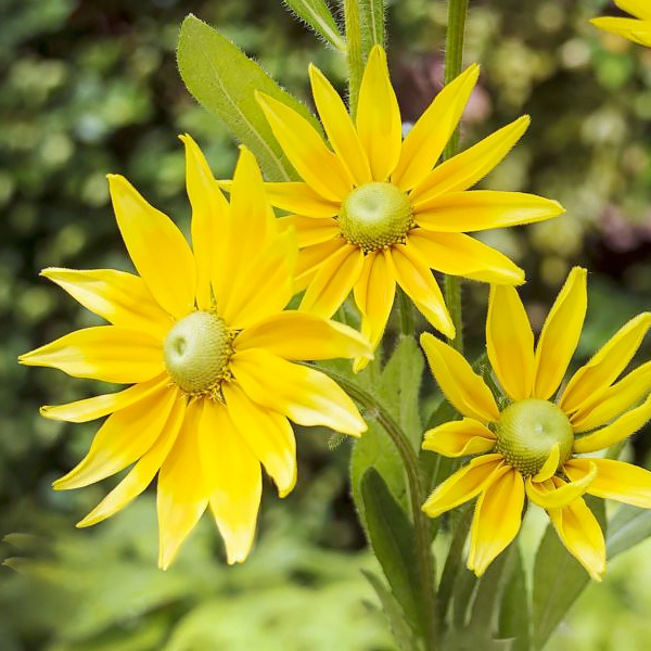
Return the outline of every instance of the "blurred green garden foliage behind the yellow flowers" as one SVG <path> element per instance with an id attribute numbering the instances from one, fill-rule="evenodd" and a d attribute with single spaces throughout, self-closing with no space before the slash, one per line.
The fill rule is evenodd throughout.
<path id="1" fill-rule="evenodd" d="M 651 307 L 651 50 L 597 33 L 588 18 L 604 11 L 616 13 L 601 0 L 472 0 L 465 55 L 483 72 L 464 142 L 533 117 L 484 187 L 534 191 L 567 208 L 483 237 L 526 269 L 538 327 L 569 268 L 590 269 L 584 358 Z M 196 138 L 217 176 L 232 170 L 234 143 L 177 73 L 189 12 L 306 102 L 309 61 L 342 86 L 343 61 L 280 0 L 0 0 L 0 532 L 11 534 L 2 558 L 17 557 L 21 571 L 0 569 L 0 651 L 388 650 L 359 572 L 372 559 L 348 497 L 349 447 L 329 449 L 324 431 L 299 432 L 298 486 L 282 502 L 266 486 L 257 546 L 233 569 L 207 519 L 162 573 L 152 495 L 79 531 L 74 523 L 113 483 L 50 488 L 97 424 L 46 421 L 39 405 L 106 387 L 16 365 L 20 353 L 95 322 L 39 270 L 128 268 L 106 173 L 126 175 L 186 228 L 178 133 Z M 441 87 L 446 4 L 394 0 L 387 17 L 394 84 L 413 120 Z M 464 291 L 477 353 L 486 294 L 480 284 Z M 650 353 L 647 342 L 640 357 Z M 642 433 L 631 455 L 649 465 L 649 448 Z M 548 649 L 648 650 L 649 551 L 644 544 L 617 559 Z"/>

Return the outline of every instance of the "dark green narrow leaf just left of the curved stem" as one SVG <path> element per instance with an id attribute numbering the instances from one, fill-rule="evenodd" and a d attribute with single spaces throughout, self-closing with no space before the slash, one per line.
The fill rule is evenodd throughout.
<path id="1" fill-rule="evenodd" d="M 413 525 L 373 468 L 363 474 L 361 495 L 373 552 L 410 625 L 422 630 Z"/>

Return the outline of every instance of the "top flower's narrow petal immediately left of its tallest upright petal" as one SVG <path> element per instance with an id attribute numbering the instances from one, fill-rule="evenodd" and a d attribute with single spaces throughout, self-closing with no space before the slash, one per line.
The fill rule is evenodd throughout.
<path id="1" fill-rule="evenodd" d="M 369 161 L 344 102 L 319 68 L 310 64 L 308 69 L 315 104 L 332 149 L 356 186 L 370 182 Z"/>

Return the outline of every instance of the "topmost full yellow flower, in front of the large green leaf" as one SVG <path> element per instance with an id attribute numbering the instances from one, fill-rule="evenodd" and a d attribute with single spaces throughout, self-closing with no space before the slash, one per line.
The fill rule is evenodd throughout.
<path id="1" fill-rule="evenodd" d="M 396 282 L 441 332 L 455 335 L 430 269 L 484 282 L 520 284 L 524 272 L 463 234 L 560 215 L 553 201 L 519 192 L 467 190 L 518 142 L 528 116 L 434 167 L 478 77 L 473 65 L 446 86 L 403 140 L 386 56 L 375 46 L 359 90 L 356 123 L 328 79 L 309 67 L 330 149 L 301 115 L 264 94 L 258 101 L 303 182 L 267 183 L 271 203 L 296 228 L 302 310 L 330 317 L 354 291 L 362 332 L 375 347 Z M 358 360 L 356 368 L 363 366 Z"/>

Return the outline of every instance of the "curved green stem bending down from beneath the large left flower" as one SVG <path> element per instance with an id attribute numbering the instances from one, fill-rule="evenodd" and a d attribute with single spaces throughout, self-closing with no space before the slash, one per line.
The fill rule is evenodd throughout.
<path id="1" fill-rule="evenodd" d="M 434 587 L 434 562 L 430 546 L 427 516 L 421 510 L 425 495 L 420 477 L 418 457 L 407 435 L 403 432 L 398 423 L 396 423 L 393 416 L 371 394 L 335 371 L 323 368 L 319 370 L 330 375 L 353 399 L 366 408 L 369 416 L 372 416 L 388 434 L 400 455 L 407 474 L 407 483 L 409 484 L 419 575 L 422 579 L 422 593 L 420 597 L 423 604 L 423 612 L 425 613 L 423 622 L 425 627 L 425 630 L 423 630 L 424 649 L 425 651 L 436 651 L 438 649 L 438 618 L 436 590 Z"/>

